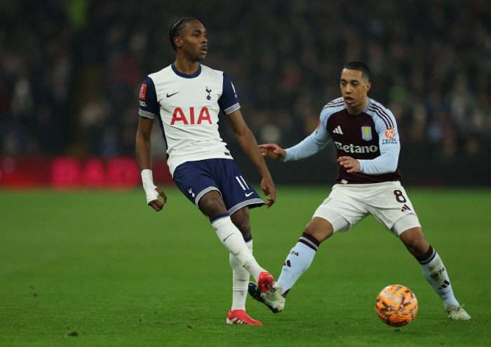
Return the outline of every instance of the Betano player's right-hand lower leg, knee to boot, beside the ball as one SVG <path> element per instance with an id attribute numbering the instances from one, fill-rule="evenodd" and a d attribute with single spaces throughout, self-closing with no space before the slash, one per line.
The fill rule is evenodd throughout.
<path id="1" fill-rule="evenodd" d="M 471 316 L 459 305 L 452 291 L 448 272 L 438 253 L 424 238 L 421 228 L 415 227 L 401 233 L 401 241 L 409 252 L 421 265 L 424 277 L 434 288 L 438 296 L 443 299 L 448 318 L 455 320 L 469 320 Z"/>

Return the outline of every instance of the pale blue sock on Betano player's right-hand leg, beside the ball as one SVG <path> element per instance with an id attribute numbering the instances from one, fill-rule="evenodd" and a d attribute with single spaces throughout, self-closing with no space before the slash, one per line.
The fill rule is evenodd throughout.
<path id="1" fill-rule="evenodd" d="M 450 285 L 447 269 L 443 266 L 443 261 L 440 259 L 438 253 L 433 250 L 433 247 L 430 246 L 428 252 L 423 257 L 416 259 L 419 261 L 428 283 L 436 291 L 436 294 L 443 299 L 445 311 L 449 306 L 459 306 L 459 302 L 455 299 L 454 292 L 452 291 L 452 285 Z"/>

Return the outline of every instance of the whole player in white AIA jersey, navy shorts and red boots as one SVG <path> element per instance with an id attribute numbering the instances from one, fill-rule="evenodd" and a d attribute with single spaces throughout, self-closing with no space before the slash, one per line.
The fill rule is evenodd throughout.
<path id="1" fill-rule="evenodd" d="M 149 74 L 140 89 L 136 153 L 147 204 L 158 212 L 167 200 L 154 185 L 151 170 L 150 134 L 157 118 L 175 184 L 208 217 L 230 252 L 233 301 L 227 323 L 262 325 L 245 313 L 249 276 L 259 281 L 261 292 L 281 300 L 273 276 L 253 257 L 249 209 L 264 205 L 264 201 L 242 177 L 227 144 L 220 138 L 220 110 L 244 153 L 262 175 L 261 188 L 267 196 L 268 208 L 276 200 L 274 182 L 254 135 L 242 118 L 231 81 L 223 72 L 199 64 L 208 50 L 206 29 L 201 22 L 191 17 L 175 21 L 169 39 L 177 52 L 175 63 Z"/>

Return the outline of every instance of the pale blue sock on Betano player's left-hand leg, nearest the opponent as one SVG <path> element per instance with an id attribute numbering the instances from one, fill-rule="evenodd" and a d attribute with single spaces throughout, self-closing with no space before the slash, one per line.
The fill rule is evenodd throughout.
<path id="1" fill-rule="evenodd" d="M 320 243 L 314 236 L 302 233 L 297 245 L 292 248 L 290 254 L 286 257 L 280 278 L 278 278 L 278 285 L 281 288 L 283 297 L 286 297 L 290 288 L 312 264 L 319 245 Z"/>

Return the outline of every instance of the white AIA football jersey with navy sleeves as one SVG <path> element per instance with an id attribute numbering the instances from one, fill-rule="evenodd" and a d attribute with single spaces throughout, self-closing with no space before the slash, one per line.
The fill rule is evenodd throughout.
<path id="1" fill-rule="evenodd" d="M 218 116 L 220 109 L 229 114 L 239 108 L 227 75 L 201 64 L 191 75 L 172 64 L 149 74 L 140 89 L 139 114 L 159 119 L 171 175 L 187 161 L 231 159 L 218 132 Z"/>

